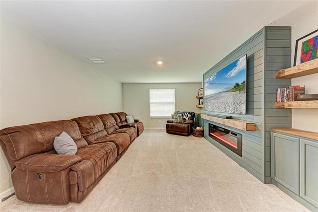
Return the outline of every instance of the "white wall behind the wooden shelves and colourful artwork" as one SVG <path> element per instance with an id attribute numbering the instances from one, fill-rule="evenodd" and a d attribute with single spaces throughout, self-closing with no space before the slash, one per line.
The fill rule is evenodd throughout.
<path id="1" fill-rule="evenodd" d="M 318 29 L 318 10 L 292 26 L 292 64 L 297 39 Z M 318 93 L 318 73 L 292 79 L 292 85 L 306 85 L 306 94 Z M 318 109 L 292 109 L 292 127 L 318 132 Z"/>

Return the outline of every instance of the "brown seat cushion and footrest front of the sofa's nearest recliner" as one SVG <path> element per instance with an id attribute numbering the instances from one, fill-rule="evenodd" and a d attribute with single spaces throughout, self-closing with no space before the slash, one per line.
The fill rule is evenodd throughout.
<path id="1" fill-rule="evenodd" d="M 85 146 L 76 153 L 81 162 L 72 166 L 78 174 L 79 191 L 85 191 L 117 158 L 117 148 L 113 142 Z"/>

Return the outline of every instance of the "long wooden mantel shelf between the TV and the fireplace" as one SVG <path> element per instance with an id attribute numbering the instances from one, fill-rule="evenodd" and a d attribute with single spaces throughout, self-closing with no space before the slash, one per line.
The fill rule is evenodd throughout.
<path id="1" fill-rule="evenodd" d="M 222 119 L 214 116 L 208 116 L 205 114 L 201 115 L 201 119 L 210 120 L 213 122 L 217 122 L 223 125 L 227 125 L 239 130 L 243 131 L 255 131 L 256 130 L 256 124 L 251 122 L 242 121 L 239 119 Z"/>

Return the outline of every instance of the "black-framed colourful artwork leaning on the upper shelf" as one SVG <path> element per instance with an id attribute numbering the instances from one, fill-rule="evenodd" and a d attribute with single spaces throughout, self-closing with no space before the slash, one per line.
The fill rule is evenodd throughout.
<path id="1" fill-rule="evenodd" d="M 296 41 L 294 66 L 318 59 L 318 29 Z"/>

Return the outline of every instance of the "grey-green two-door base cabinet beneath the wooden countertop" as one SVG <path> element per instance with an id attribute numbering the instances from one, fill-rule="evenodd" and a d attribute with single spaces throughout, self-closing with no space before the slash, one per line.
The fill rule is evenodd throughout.
<path id="1" fill-rule="evenodd" d="M 272 183 L 318 211 L 318 140 L 271 131 Z"/>

